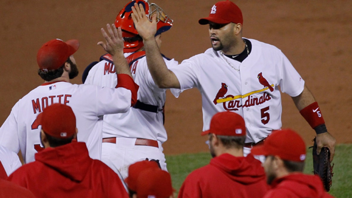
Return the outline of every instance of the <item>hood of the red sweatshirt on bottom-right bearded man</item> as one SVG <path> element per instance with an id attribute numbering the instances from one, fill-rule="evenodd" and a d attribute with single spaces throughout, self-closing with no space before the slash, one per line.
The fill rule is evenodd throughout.
<path id="1" fill-rule="evenodd" d="M 326 193 L 317 175 L 293 173 L 277 178 L 271 184 L 273 190 L 285 190 L 295 193 L 298 197 L 323 197 Z"/>

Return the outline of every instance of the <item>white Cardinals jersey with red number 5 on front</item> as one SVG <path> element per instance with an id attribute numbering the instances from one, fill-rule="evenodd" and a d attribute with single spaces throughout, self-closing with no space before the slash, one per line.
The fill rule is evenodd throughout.
<path id="1" fill-rule="evenodd" d="M 249 41 L 252 50 L 242 62 L 209 48 L 171 70 L 181 85 L 178 94 L 193 87 L 200 90 L 203 130 L 209 129 L 215 113 L 233 111 L 245 120 L 246 142 L 259 142 L 282 126 L 279 89 L 295 97 L 302 93 L 304 80 L 281 50 Z"/>

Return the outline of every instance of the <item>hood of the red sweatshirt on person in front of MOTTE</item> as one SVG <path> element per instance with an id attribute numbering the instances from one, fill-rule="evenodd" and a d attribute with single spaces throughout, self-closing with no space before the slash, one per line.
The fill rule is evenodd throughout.
<path id="1" fill-rule="evenodd" d="M 46 148 L 36 153 L 35 159 L 75 181 L 83 180 L 93 162 L 84 142 L 72 142 L 55 148 Z"/>

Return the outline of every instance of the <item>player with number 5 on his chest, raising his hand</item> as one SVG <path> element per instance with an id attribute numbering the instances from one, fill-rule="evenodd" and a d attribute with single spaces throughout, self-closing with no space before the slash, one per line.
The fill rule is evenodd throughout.
<path id="1" fill-rule="evenodd" d="M 209 17 L 199 20 L 209 25 L 212 48 L 168 69 L 159 55 L 155 38 L 155 18 L 150 22 L 142 6 L 133 7 L 132 19 L 143 38 L 147 63 L 161 88 L 180 88 L 180 93 L 196 87 L 202 95 L 203 131 L 217 112 L 234 111 L 244 117 L 247 138 L 244 153 L 262 144 L 272 130 L 280 129 L 280 91 L 289 94 L 302 116 L 316 131 L 318 152 L 328 147 L 333 159 L 335 138 L 327 132 L 312 93 L 288 58 L 273 45 L 242 37 L 243 17 L 231 1 L 217 2 Z M 264 159 L 261 159 L 264 160 Z"/>

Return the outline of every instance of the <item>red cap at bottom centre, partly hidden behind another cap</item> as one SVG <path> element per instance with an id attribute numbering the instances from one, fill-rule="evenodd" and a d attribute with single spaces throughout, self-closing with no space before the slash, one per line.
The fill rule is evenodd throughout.
<path id="1" fill-rule="evenodd" d="M 149 168 L 159 168 L 159 166 L 156 162 L 148 160 L 138 161 L 131 164 L 128 167 L 128 177 L 125 179 L 128 188 L 136 191 L 138 175 L 145 169 Z"/>

